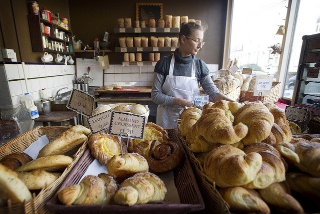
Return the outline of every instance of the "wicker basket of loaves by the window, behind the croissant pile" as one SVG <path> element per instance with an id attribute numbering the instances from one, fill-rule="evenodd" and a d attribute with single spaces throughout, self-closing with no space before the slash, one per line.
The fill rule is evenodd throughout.
<path id="1" fill-rule="evenodd" d="M 271 88 L 271 92 L 269 95 L 261 96 L 253 96 L 253 91 L 240 91 L 240 99 L 239 102 L 249 101 L 254 102 L 260 100 L 262 103 L 275 103 L 279 99 L 279 92 L 280 92 L 280 82 L 272 82 L 273 88 Z"/>

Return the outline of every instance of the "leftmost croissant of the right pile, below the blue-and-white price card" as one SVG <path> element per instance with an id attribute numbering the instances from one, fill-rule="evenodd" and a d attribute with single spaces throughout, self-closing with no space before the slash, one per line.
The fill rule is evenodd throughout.
<path id="1" fill-rule="evenodd" d="M 190 107 L 182 111 L 179 118 L 181 123 L 179 131 L 183 137 L 185 137 L 190 131 L 193 124 L 201 117 L 201 110 L 198 108 Z"/>

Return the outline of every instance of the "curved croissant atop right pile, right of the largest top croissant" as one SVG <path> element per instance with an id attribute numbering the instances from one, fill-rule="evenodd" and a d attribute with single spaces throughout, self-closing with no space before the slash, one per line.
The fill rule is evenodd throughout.
<path id="1" fill-rule="evenodd" d="M 247 135 L 242 138 L 245 146 L 261 142 L 267 138 L 274 123 L 273 115 L 261 102 L 244 102 L 234 116 L 234 124 L 245 124 Z"/>

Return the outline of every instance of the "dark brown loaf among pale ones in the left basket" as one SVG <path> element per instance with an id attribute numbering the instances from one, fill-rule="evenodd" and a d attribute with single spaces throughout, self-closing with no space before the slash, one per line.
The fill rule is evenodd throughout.
<path id="1" fill-rule="evenodd" d="M 7 156 L 4 156 L 1 160 L 0 163 L 6 166 L 7 168 L 11 170 L 15 170 L 22 165 L 32 161 L 33 159 L 26 153 L 24 152 L 15 152 L 11 153 Z"/>

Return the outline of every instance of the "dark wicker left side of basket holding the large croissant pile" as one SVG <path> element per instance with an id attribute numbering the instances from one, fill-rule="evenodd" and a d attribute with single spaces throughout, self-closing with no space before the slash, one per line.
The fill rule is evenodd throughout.
<path id="1" fill-rule="evenodd" d="M 180 126 L 180 120 L 176 120 L 177 126 Z M 191 167 L 197 178 L 199 188 L 204 200 L 205 213 L 208 214 L 230 214 L 229 205 L 223 200 L 221 195 L 215 188 L 214 182 L 208 178 L 203 171 L 203 167 L 200 162 L 196 159 L 194 153 L 190 149 L 189 145 L 185 139 L 179 134 L 179 141 L 182 145 L 190 159 Z"/>

